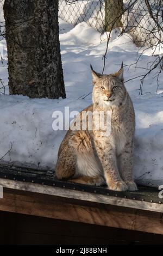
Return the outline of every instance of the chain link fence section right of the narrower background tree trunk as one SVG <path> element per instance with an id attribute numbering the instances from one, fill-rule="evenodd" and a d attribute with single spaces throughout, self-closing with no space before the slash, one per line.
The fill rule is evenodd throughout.
<path id="1" fill-rule="evenodd" d="M 163 40 L 163 1 L 124 1 L 122 29 L 129 32 L 138 46 L 156 46 Z"/>

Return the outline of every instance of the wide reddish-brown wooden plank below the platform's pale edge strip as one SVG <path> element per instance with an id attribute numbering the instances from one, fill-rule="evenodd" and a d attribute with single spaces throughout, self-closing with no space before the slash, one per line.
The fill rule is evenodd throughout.
<path id="1" fill-rule="evenodd" d="M 78 202 L 80 204 L 78 204 Z M 162 214 L 79 200 L 58 200 L 55 196 L 4 190 L 0 210 L 107 227 L 163 234 Z"/>

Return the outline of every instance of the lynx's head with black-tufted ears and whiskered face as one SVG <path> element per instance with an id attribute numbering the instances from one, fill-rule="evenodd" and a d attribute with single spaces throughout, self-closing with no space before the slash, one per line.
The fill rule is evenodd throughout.
<path id="1" fill-rule="evenodd" d="M 123 63 L 121 69 L 110 75 L 95 72 L 91 65 L 93 94 L 92 101 L 101 107 L 121 106 L 126 99 L 126 88 L 123 83 Z"/>

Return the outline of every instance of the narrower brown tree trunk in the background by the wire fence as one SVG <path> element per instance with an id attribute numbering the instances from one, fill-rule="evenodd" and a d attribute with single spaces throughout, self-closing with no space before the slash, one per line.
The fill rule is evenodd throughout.
<path id="1" fill-rule="evenodd" d="M 105 31 L 122 27 L 123 0 L 105 0 Z"/>

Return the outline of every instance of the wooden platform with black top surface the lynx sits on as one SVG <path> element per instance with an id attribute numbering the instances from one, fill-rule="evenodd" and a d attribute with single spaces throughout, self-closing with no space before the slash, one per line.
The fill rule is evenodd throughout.
<path id="1" fill-rule="evenodd" d="M 163 202 L 155 188 L 114 192 L 11 166 L 0 167 L 0 185 L 0 211 L 163 234 Z"/>

